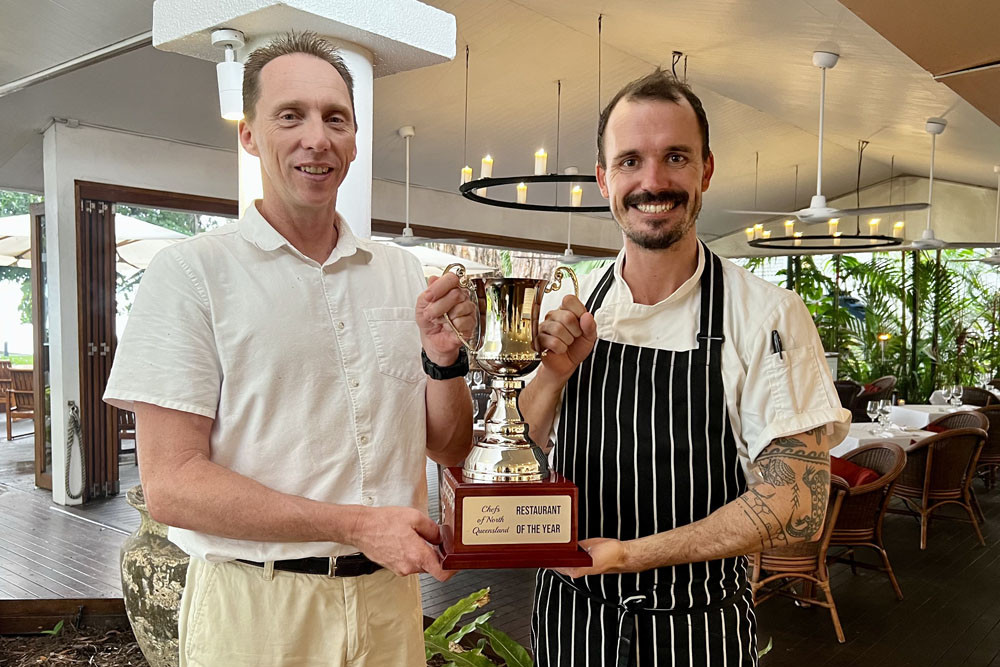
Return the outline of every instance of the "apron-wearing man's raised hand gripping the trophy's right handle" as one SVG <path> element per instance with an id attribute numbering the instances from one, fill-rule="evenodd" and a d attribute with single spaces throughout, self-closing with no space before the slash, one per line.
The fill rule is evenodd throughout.
<path id="1" fill-rule="evenodd" d="M 542 365 L 565 381 L 594 349 L 597 322 L 578 298 L 568 294 L 538 325 L 538 342 L 546 351 Z"/>

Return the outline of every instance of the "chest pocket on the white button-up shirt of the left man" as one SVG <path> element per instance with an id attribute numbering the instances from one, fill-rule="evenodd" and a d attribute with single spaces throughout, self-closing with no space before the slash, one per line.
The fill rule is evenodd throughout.
<path id="1" fill-rule="evenodd" d="M 420 329 L 413 308 L 365 308 L 365 320 L 375 345 L 378 370 L 403 382 L 424 376 L 420 361 Z"/>

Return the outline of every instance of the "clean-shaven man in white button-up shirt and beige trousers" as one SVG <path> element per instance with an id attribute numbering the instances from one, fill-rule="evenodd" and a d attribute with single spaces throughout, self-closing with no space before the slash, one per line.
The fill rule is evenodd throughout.
<path id="1" fill-rule="evenodd" d="M 467 330 L 472 304 L 337 214 L 357 124 L 336 49 L 285 36 L 244 76 L 263 198 L 154 258 L 105 395 L 135 410 L 150 515 L 191 555 L 180 664 L 422 665 L 415 575 L 447 577 L 426 456 L 472 440 L 439 320 Z"/>

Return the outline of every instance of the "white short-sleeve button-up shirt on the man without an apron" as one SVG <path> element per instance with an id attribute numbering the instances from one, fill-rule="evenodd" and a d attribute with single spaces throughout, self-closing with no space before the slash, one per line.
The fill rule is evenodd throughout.
<path id="1" fill-rule="evenodd" d="M 211 459 L 277 491 L 426 511 L 425 375 L 414 318 L 426 282 L 405 250 L 338 220 L 323 263 L 257 211 L 177 243 L 146 270 L 104 399 L 214 419 Z M 208 560 L 356 552 L 171 527 Z"/>

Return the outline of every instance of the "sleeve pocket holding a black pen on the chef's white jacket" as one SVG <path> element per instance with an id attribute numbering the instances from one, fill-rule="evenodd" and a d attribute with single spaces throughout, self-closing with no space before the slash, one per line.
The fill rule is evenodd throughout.
<path id="1" fill-rule="evenodd" d="M 769 354 L 764 360 L 764 369 L 775 418 L 784 419 L 829 407 L 812 345 Z"/>

